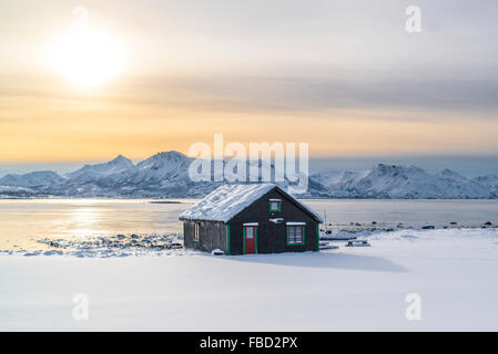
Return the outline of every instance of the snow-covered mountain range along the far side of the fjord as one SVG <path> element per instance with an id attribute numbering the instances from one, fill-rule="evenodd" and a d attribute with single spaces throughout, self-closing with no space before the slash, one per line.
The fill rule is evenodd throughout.
<path id="1" fill-rule="evenodd" d="M 53 171 L 7 175 L 0 178 L 0 192 L 17 197 L 199 198 L 224 184 L 192 181 L 189 177 L 192 160 L 173 150 L 155 154 L 134 165 L 120 155 L 109 163 L 85 165 L 68 174 L 68 178 Z M 213 166 L 213 162 L 211 164 Z M 286 188 L 288 181 L 278 185 Z M 495 199 L 498 198 L 498 176 L 467 178 L 449 169 L 431 175 L 415 166 L 379 164 L 364 171 L 312 175 L 307 192 L 297 197 Z"/>

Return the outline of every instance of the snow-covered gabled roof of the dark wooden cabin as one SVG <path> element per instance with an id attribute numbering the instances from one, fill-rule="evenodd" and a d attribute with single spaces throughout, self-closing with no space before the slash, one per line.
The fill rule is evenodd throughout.
<path id="1" fill-rule="evenodd" d="M 293 199 L 316 220 L 323 222 L 322 218 L 316 212 L 274 184 L 221 186 L 209 194 L 204 199 L 193 205 L 190 209 L 185 210 L 180 216 L 180 220 L 213 220 L 227 222 L 274 188 L 277 188 L 285 196 Z"/>

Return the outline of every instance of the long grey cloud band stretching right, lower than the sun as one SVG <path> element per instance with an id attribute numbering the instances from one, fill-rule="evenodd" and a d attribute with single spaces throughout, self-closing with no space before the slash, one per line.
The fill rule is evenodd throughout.
<path id="1" fill-rule="evenodd" d="M 327 110 L 419 110 L 496 117 L 498 82 L 405 77 L 334 80 L 301 77 L 154 77 L 136 97 L 156 104 L 245 112 L 323 112 Z M 407 114 L 407 118 L 409 115 Z M 443 117 L 443 114 L 440 114 Z M 399 117 L 403 119 L 403 117 Z M 498 118 L 498 117 L 496 117 Z"/>

